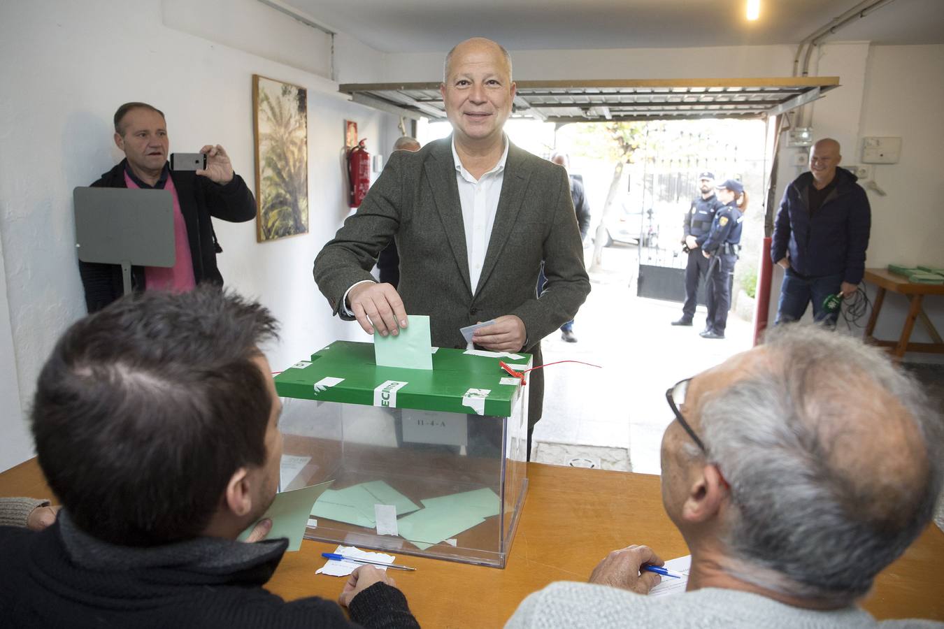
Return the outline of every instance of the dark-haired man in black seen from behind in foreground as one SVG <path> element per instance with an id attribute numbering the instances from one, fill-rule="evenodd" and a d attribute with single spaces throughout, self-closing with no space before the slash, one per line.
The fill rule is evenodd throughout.
<path id="1" fill-rule="evenodd" d="M 126 297 L 66 331 L 32 414 L 63 508 L 39 533 L 0 527 L 4 623 L 351 626 L 333 602 L 262 589 L 286 539 L 236 541 L 278 484 L 281 406 L 259 349 L 276 327 L 205 286 Z M 360 568 L 339 600 L 365 627 L 418 626 L 392 586 Z"/>

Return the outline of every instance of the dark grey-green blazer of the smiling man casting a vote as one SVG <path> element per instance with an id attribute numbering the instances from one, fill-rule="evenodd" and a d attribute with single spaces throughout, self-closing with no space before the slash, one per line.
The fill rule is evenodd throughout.
<path id="1" fill-rule="evenodd" d="M 573 319 L 590 292 L 565 170 L 514 144 L 478 286 L 469 285 L 450 136 L 392 153 L 361 207 L 315 258 L 315 282 L 335 314 L 353 319 L 341 310 L 345 293 L 373 279 L 391 239 L 400 255 L 397 291 L 408 313 L 430 315 L 437 347 L 464 348 L 461 327 L 514 314 L 528 332 L 528 352 Z M 538 299 L 542 260 L 548 289 Z"/>

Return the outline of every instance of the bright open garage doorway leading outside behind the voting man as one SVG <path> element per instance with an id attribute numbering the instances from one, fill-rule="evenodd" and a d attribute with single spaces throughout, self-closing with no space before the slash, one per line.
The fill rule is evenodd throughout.
<path id="1" fill-rule="evenodd" d="M 505 129 L 516 145 L 535 155 L 567 153 L 570 173 L 582 175 L 592 210 L 584 255 L 593 290 L 575 318 L 578 342 L 565 342 L 554 333 L 542 341 L 542 349 L 547 363 L 576 359 L 603 369 L 572 364 L 548 368 L 533 460 L 659 473 L 662 433 L 672 420 L 666 389 L 752 344 L 752 292 L 764 237 L 769 164 L 767 123 L 705 119 L 559 125 L 513 118 Z M 417 125 L 423 144 L 450 132 L 445 121 Z M 629 155 L 626 145 L 632 149 Z M 683 214 L 704 170 L 715 173 L 719 182 L 739 179 L 750 195 L 733 309 L 722 340 L 699 337 L 703 306 L 693 327 L 669 324 L 682 315 L 687 259 L 681 249 Z M 653 273 L 665 275 L 663 284 L 669 288 L 673 274 L 678 278 L 674 297 L 640 291 L 640 277 L 645 285 Z"/>

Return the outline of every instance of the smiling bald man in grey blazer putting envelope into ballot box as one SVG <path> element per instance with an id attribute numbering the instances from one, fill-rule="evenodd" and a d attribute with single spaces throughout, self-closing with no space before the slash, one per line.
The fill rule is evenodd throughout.
<path id="1" fill-rule="evenodd" d="M 451 138 L 394 153 L 314 260 L 335 314 L 384 336 L 406 327 L 407 312 L 430 315 L 432 343 L 456 348 L 465 346 L 460 327 L 495 319 L 476 331 L 477 346 L 542 364 L 541 339 L 573 318 L 590 282 L 565 170 L 502 131 L 514 90 L 511 59 L 496 42 L 474 38 L 449 52 L 440 91 Z M 369 273 L 392 238 L 397 289 Z M 538 298 L 542 259 L 548 285 Z M 530 454 L 542 372 L 531 372 L 528 389 Z"/>

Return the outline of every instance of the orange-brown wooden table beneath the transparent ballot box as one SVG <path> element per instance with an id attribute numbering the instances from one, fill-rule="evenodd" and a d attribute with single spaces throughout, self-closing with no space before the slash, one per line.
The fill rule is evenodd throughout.
<path id="1" fill-rule="evenodd" d="M 663 558 L 688 553 L 662 507 L 659 477 L 529 463 L 528 499 L 504 570 L 398 555 L 415 572 L 392 571 L 424 627 L 500 627 L 531 592 L 584 581 L 609 551 L 649 544 Z M 0 473 L 0 495 L 49 496 L 36 459 Z M 267 588 L 293 600 L 337 598 L 343 579 L 315 574 L 333 548 L 304 541 L 287 553 Z M 944 533 L 931 525 L 883 571 L 863 606 L 879 619 L 944 620 Z"/>

